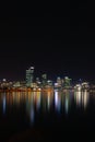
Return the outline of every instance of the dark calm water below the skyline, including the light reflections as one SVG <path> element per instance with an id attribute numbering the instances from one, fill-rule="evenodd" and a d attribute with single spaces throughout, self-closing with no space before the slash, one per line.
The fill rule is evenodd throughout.
<path id="1" fill-rule="evenodd" d="M 0 93 L 0 142 L 91 141 L 94 135 L 94 93 Z"/>

